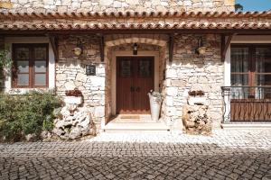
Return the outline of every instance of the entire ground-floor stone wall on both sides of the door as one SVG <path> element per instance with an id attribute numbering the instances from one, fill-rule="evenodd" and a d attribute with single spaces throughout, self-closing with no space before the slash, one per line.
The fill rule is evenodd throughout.
<path id="1" fill-rule="evenodd" d="M 120 36 L 121 37 L 121 36 Z M 206 54 L 197 55 L 195 49 L 202 37 Z M 83 42 L 84 55 L 74 57 L 72 50 L 77 38 Z M 115 41 L 116 42 L 116 41 Z M 89 106 L 98 121 L 108 120 L 111 115 L 111 74 L 113 52 L 132 51 L 133 44 L 120 44 L 106 48 L 106 59 L 100 62 L 98 37 L 92 35 L 67 36 L 60 40 L 60 60 L 56 67 L 58 94 L 78 87 L 84 95 L 84 106 Z M 165 121 L 174 121 L 182 127 L 182 107 L 187 103 L 189 90 L 203 90 L 207 96 L 210 117 L 218 126 L 222 117 L 220 86 L 223 85 L 224 64 L 220 59 L 220 36 L 214 34 L 188 34 L 175 36 L 173 62 L 168 60 L 168 49 L 150 44 L 138 44 L 139 50 L 160 51 L 159 81 L 164 94 L 162 114 Z M 97 76 L 86 76 L 86 64 L 97 65 Z M 163 72 L 165 64 L 165 72 Z M 165 73 L 165 80 L 163 79 Z"/>

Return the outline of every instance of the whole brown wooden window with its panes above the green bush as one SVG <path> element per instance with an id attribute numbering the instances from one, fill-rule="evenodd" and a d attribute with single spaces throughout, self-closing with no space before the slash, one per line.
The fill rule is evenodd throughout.
<path id="1" fill-rule="evenodd" d="M 48 44 L 13 44 L 13 87 L 48 87 Z"/>

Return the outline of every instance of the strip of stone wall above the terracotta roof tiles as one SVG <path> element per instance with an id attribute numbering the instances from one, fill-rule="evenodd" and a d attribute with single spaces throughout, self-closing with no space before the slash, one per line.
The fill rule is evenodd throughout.
<path id="1" fill-rule="evenodd" d="M 4 0 L 0 12 L 206 12 L 234 11 L 234 4 L 235 0 Z"/>

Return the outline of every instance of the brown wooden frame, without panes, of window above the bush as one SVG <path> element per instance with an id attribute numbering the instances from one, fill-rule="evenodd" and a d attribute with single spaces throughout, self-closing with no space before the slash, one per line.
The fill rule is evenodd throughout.
<path id="1" fill-rule="evenodd" d="M 17 69 L 17 61 L 15 59 L 15 51 L 17 48 L 28 48 L 29 49 L 29 85 L 18 85 L 18 69 Z M 46 48 L 46 72 L 38 73 L 34 71 L 34 63 L 35 61 L 39 61 L 41 59 L 34 59 L 34 48 Z M 13 43 L 12 46 L 12 60 L 14 62 L 12 69 L 12 87 L 13 88 L 48 88 L 49 86 L 49 44 L 48 43 Z M 28 74 L 26 73 L 26 74 Z M 23 74 L 23 73 L 20 73 Z M 34 77 L 36 74 L 45 74 L 45 85 L 34 85 Z"/>

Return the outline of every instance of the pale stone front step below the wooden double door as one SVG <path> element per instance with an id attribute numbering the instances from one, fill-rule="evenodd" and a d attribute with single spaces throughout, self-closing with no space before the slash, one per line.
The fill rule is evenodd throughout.
<path id="1" fill-rule="evenodd" d="M 164 122 L 109 122 L 103 131 L 168 131 Z"/>

